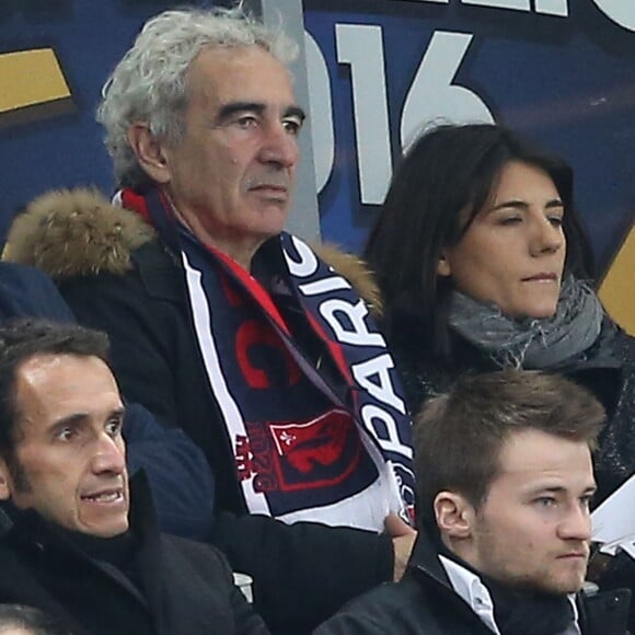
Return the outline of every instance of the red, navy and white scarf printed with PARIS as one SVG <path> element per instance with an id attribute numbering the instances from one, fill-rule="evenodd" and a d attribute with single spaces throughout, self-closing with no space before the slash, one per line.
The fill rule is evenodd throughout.
<path id="1" fill-rule="evenodd" d="M 254 256 L 256 279 L 175 220 L 159 192 L 120 199 L 181 257 L 250 512 L 376 531 L 390 512 L 412 519 L 411 419 L 385 340 L 350 284 L 285 232 Z"/>

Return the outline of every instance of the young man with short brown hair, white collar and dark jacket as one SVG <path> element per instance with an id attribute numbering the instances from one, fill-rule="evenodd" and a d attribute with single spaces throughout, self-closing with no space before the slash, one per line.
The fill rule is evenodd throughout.
<path id="1" fill-rule="evenodd" d="M 585 389 L 539 371 L 467 376 L 430 400 L 406 575 L 315 635 L 624 635 L 628 591 L 579 593 L 604 418 Z"/>

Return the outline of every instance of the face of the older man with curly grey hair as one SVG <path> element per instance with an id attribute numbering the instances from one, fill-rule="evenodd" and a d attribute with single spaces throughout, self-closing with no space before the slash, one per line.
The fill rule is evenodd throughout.
<path id="1" fill-rule="evenodd" d="M 204 242 L 239 262 L 284 228 L 303 113 L 287 69 L 258 46 L 204 49 L 187 74 L 185 136 L 154 174 Z"/>

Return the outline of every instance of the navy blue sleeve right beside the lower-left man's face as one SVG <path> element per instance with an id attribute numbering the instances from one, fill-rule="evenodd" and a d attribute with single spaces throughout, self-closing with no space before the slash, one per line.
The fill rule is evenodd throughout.
<path id="1" fill-rule="evenodd" d="M 127 404 L 124 436 L 128 471 L 146 471 L 161 530 L 209 540 L 213 476 L 203 451 L 182 430 L 164 429 L 139 404 Z"/>

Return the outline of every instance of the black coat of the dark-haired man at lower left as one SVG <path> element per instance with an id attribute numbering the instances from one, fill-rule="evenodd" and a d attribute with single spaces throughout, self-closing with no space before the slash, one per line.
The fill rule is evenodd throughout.
<path id="1" fill-rule="evenodd" d="M 159 534 L 135 481 L 130 524 L 140 543 L 125 565 L 94 559 L 34 510 L 0 508 L 0 602 L 36 607 L 73 635 L 266 635 L 224 557 Z"/>

